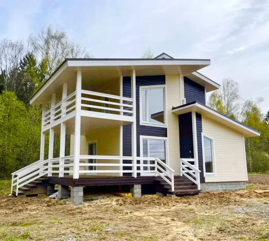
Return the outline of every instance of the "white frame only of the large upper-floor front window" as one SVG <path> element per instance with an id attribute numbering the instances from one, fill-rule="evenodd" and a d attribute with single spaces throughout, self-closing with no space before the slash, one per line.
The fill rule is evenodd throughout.
<path id="1" fill-rule="evenodd" d="M 160 89 L 163 88 L 163 94 L 164 94 L 164 124 L 160 123 L 150 123 L 147 121 L 143 121 L 143 111 L 142 111 L 142 91 L 148 90 L 148 89 Z M 146 99 L 148 101 L 148 99 Z M 148 104 L 147 104 L 147 113 L 148 113 Z M 146 125 L 146 126 L 155 126 L 155 127 L 163 127 L 167 128 L 167 88 L 166 85 L 144 85 L 139 86 L 139 121 L 140 125 Z"/>

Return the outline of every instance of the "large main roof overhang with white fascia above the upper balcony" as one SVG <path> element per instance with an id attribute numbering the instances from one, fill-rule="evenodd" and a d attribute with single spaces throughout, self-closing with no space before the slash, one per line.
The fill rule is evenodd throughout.
<path id="1" fill-rule="evenodd" d="M 67 58 L 51 75 L 41 88 L 31 97 L 30 104 L 46 102 L 47 96 L 59 90 L 66 81 L 75 81 L 75 72 L 82 71 L 83 78 L 115 79 L 130 76 L 131 70 L 136 76 L 146 75 L 187 75 L 210 65 L 210 59 L 70 59 Z M 86 76 L 86 77 L 85 77 Z M 60 91 L 58 91 L 60 92 Z"/>

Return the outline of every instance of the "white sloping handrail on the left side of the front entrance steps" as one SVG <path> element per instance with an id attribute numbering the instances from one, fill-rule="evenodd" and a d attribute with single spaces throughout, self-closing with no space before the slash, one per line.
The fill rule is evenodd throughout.
<path id="1" fill-rule="evenodd" d="M 166 169 L 166 170 L 165 170 Z M 162 162 L 159 158 L 155 158 L 155 173 L 156 176 L 160 176 L 168 184 L 171 185 L 172 192 L 175 190 L 174 187 L 174 170 Z M 168 178 L 170 178 L 170 180 Z"/>

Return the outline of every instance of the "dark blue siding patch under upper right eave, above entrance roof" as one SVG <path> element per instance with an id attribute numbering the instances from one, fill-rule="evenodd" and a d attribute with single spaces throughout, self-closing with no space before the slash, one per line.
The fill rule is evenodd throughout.
<path id="1" fill-rule="evenodd" d="M 206 104 L 205 87 L 195 83 L 187 77 L 184 77 L 184 94 L 186 98 L 186 104 L 193 101 L 199 101 L 204 105 Z"/>

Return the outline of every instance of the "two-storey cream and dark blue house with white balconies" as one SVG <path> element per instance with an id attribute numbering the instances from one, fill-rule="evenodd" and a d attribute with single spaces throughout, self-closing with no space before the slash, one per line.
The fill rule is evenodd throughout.
<path id="1" fill-rule="evenodd" d="M 245 188 L 244 138 L 260 133 L 206 106 L 220 85 L 209 59 L 65 59 L 32 96 L 42 104 L 40 160 L 12 173 L 17 196 L 81 202 L 83 186 L 169 196 Z M 45 133 L 49 133 L 44 160 Z M 53 156 L 54 133 L 60 155 Z M 66 135 L 70 153 L 65 154 Z"/>

